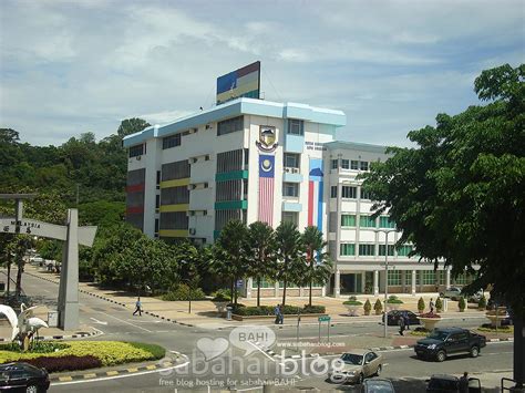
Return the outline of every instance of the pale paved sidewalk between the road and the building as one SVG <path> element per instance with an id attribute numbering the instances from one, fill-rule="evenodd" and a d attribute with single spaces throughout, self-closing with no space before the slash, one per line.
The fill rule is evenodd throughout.
<path id="1" fill-rule="evenodd" d="M 43 271 L 42 268 L 27 265 L 25 271 L 28 275 L 32 275 L 52 282 L 59 282 L 59 275 Z M 96 285 L 92 282 L 80 282 L 79 289 L 81 292 L 87 293 L 90 296 L 117 303 L 123 306 L 132 312 L 135 308 L 136 294 L 130 293 L 125 291 L 119 290 L 111 290 L 111 289 L 101 289 Z M 402 309 L 404 310 L 412 310 L 418 311 L 418 300 L 420 297 L 425 299 L 425 303 L 428 304 L 430 299 L 435 299 L 437 293 L 424 293 L 424 294 L 399 294 L 399 298 L 404 302 L 402 304 Z M 373 304 L 375 299 L 383 299 L 381 296 L 373 297 L 369 294 L 360 294 L 357 298 L 364 302 L 367 299 Z M 361 317 L 349 317 L 347 308 L 342 304 L 342 302 L 347 300 L 346 297 L 342 298 L 313 298 L 312 302 L 318 306 L 325 306 L 326 312 L 331 317 L 332 324 L 339 323 L 360 323 L 360 322 L 379 322 L 381 320 L 381 316 L 361 316 Z M 194 325 L 203 329 L 227 329 L 230 327 L 239 327 L 244 324 L 272 324 L 271 320 L 247 320 L 247 321 L 226 321 L 224 318 L 219 316 L 215 303 L 209 300 L 200 300 L 200 301 L 192 301 L 192 312 L 188 312 L 188 302 L 187 301 L 163 301 L 157 298 L 153 297 L 141 297 L 142 306 L 145 313 L 151 314 L 156 318 L 161 318 L 164 320 L 168 320 L 175 323 L 179 323 L 183 325 Z M 275 306 L 279 303 L 281 299 L 261 299 L 261 304 L 264 306 Z M 239 299 L 245 306 L 256 306 L 256 299 Z M 287 304 L 290 306 L 305 306 L 308 303 L 308 298 L 288 298 Z M 466 309 L 465 312 L 459 312 L 457 302 L 449 301 L 449 311 L 442 313 L 444 319 L 446 318 L 473 318 L 473 317 L 481 317 L 483 316 L 482 311 L 477 311 L 475 309 Z M 373 312 L 373 311 L 372 311 Z M 361 311 L 362 313 L 362 311 Z M 286 316 L 285 317 L 285 325 L 296 325 L 297 318 L 294 316 Z M 303 318 L 301 324 L 317 324 L 316 319 L 309 320 L 308 318 Z"/>

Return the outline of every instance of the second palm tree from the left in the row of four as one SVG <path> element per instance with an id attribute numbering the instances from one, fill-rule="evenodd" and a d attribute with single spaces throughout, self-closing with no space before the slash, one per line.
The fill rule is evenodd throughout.
<path id="1" fill-rule="evenodd" d="M 260 281 L 276 272 L 275 231 L 268 224 L 251 223 L 248 227 L 246 255 L 249 260 L 249 275 L 257 282 L 257 307 L 260 306 Z"/>

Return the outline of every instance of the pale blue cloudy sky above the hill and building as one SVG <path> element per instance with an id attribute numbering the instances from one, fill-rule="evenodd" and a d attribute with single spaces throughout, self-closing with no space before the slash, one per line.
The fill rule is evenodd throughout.
<path id="1" fill-rule="evenodd" d="M 34 145 L 208 108 L 261 62 L 265 100 L 341 110 L 338 138 L 406 146 L 525 58 L 525 1 L 2 0 L 0 127 Z"/>

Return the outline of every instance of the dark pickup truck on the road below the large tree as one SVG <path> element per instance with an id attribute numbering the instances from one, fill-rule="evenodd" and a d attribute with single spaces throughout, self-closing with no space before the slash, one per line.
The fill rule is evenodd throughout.
<path id="1" fill-rule="evenodd" d="M 476 358 L 485 345 L 486 338 L 482 334 L 462 328 L 442 328 L 419 340 L 414 351 L 418 358 L 443 362 L 450 355 L 462 353 L 470 353 L 472 358 Z"/>

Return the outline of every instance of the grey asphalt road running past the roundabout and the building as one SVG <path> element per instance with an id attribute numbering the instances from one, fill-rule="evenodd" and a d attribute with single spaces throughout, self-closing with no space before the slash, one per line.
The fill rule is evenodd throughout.
<path id="1" fill-rule="evenodd" d="M 31 276 L 24 276 L 25 292 L 37 297 L 37 302 L 44 302 L 51 307 L 56 303 L 58 286 Z M 255 351 L 248 358 L 243 358 L 244 352 L 230 345 L 227 352 L 210 362 L 205 362 L 200 351 L 196 350 L 197 340 L 209 338 L 210 340 L 228 339 L 230 330 L 205 330 L 189 328 L 159 321 L 155 318 L 143 316 L 132 317 L 131 311 L 120 306 L 106 301 L 80 294 L 81 323 L 91 324 L 104 332 L 103 335 L 94 340 L 127 340 L 153 342 L 165 347 L 168 351 L 174 350 L 189 356 L 191 366 L 186 370 L 178 370 L 169 375 L 162 375 L 152 372 L 126 378 L 112 378 L 104 381 L 83 382 L 78 384 L 52 385 L 51 392 L 178 392 L 203 391 L 207 387 L 197 389 L 197 383 L 209 383 L 214 391 L 218 391 L 220 383 L 240 381 L 246 384 L 257 385 L 262 376 L 274 379 L 281 376 L 281 382 L 296 386 L 312 386 L 321 391 L 330 389 L 352 390 L 352 386 L 337 386 L 325 382 L 325 376 L 307 375 L 312 364 L 312 359 L 299 363 L 297 361 L 280 362 L 269 359 L 266 354 Z M 443 324 L 474 327 L 480 324 L 480 320 L 462 319 L 442 321 Z M 290 340 L 296 335 L 295 328 L 278 329 L 272 327 L 278 340 Z M 356 323 L 352 325 L 336 325 L 332 329 L 333 335 L 366 334 L 382 331 L 382 325 L 373 323 Z M 391 328 L 394 331 L 394 327 Z M 303 337 L 317 337 L 316 325 L 303 327 Z M 406 384 L 412 383 L 410 391 L 418 392 L 423 384 L 420 381 L 432 373 L 460 373 L 463 371 L 494 371 L 512 369 L 512 343 L 488 344 L 480 358 L 471 359 L 460 356 L 444 363 L 423 362 L 413 356 L 412 350 L 398 350 L 383 352 L 385 368 L 383 375 L 395 380 L 395 384 L 403 384 L 403 391 L 408 391 Z M 331 360 L 333 358 L 326 356 Z M 306 372 L 295 371 L 296 364 L 306 368 Z M 299 369 L 300 370 L 300 369 Z M 217 376 L 218 375 L 218 376 Z M 220 376 L 223 375 L 223 376 Z M 228 381 L 229 379 L 229 381 Z M 405 381 L 409 379 L 409 381 Z M 414 380 L 411 380 L 414 379 Z M 418 380 L 419 379 L 419 380 Z M 191 385 L 193 384 L 193 386 Z M 400 386 L 400 385 L 399 385 Z M 225 389 L 225 387 L 223 387 Z M 248 385 L 241 386 L 248 389 Z M 286 390 L 286 387 L 282 387 Z"/>

